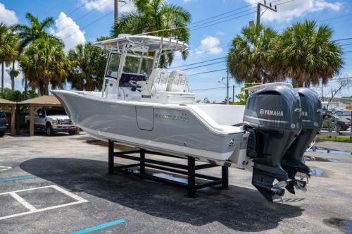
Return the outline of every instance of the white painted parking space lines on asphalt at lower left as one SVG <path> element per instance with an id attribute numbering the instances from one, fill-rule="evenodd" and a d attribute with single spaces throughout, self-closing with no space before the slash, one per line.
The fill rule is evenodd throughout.
<path id="1" fill-rule="evenodd" d="M 66 204 L 60 204 L 57 206 L 52 206 L 52 207 L 45 207 L 42 209 L 36 209 L 35 207 L 33 207 L 30 203 L 28 203 L 27 201 L 25 201 L 25 199 L 23 199 L 22 197 L 20 197 L 19 195 L 16 194 L 16 192 L 25 192 L 25 191 L 30 191 L 30 190 L 39 190 L 39 189 L 43 189 L 43 188 L 47 188 L 47 187 L 52 187 L 55 190 L 58 190 L 59 192 L 62 192 L 63 194 L 67 195 L 68 197 L 72 197 L 73 199 L 77 200 L 77 202 L 70 202 L 70 203 L 66 203 Z M 17 217 L 17 216 L 23 216 L 25 214 L 34 214 L 34 213 L 38 213 L 41 211 L 47 211 L 47 210 L 51 210 L 51 209 L 58 209 L 61 207 L 68 207 L 68 206 L 72 206 L 75 204 L 81 204 L 84 202 L 88 202 L 86 199 L 83 199 L 82 197 L 79 197 L 75 194 L 73 194 L 72 192 L 68 192 L 67 190 L 64 190 L 61 187 L 58 187 L 57 185 L 48 185 L 48 186 L 43 186 L 43 187 L 32 187 L 26 190 L 17 190 L 17 191 L 12 191 L 12 192 L 2 192 L 0 193 L 0 195 L 11 195 L 14 199 L 16 199 L 18 202 L 20 202 L 20 204 L 23 204 L 24 207 L 26 207 L 27 209 L 30 209 L 30 211 L 27 212 L 23 212 L 23 213 L 18 213 L 18 214 L 11 214 L 8 216 L 2 216 L 0 217 L 0 220 L 6 219 L 6 218 L 13 218 L 13 217 Z"/>

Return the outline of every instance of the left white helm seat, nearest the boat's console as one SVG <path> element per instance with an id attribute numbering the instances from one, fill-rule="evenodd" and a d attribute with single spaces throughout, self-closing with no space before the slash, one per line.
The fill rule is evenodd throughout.
<path id="1" fill-rule="evenodd" d="M 168 87 L 168 71 L 156 68 L 149 75 L 146 89 L 142 90 L 142 96 L 152 96 L 158 92 L 165 92 Z"/>

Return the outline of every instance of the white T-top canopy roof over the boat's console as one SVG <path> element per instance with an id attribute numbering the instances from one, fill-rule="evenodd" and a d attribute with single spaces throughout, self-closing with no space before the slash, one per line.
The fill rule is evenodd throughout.
<path id="1" fill-rule="evenodd" d="M 101 42 L 95 42 L 94 46 L 108 49 L 111 51 L 120 51 L 125 44 L 130 44 L 129 50 L 148 52 L 148 51 L 185 51 L 189 47 L 186 43 L 177 39 L 155 37 L 155 36 L 134 36 L 119 35 L 118 38 L 107 39 Z"/>

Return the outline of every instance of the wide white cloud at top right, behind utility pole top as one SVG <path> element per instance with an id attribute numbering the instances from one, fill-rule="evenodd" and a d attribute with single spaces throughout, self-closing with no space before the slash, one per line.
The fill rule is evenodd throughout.
<path id="1" fill-rule="evenodd" d="M 258 0 L 245 0 L 249 4 L 256 4 Z M 282 2 L 284 3 L 284 2 Z M 277 3 L 279 4 L 279 3 Z M 277 13 L 273 11 L 265 11 L 260 20 L 263 21 L 278 21 L 284 22 L 292 20 L 293 18 L 304 16 L 307 13 L 314 11 L 323 11 L 329 9 L 332 11 L 339 11 L 343 4 L 339 1 L 331 3 L 326 0 L 296 0 L 289 1 L 285 4 L 277 6 Z"/>

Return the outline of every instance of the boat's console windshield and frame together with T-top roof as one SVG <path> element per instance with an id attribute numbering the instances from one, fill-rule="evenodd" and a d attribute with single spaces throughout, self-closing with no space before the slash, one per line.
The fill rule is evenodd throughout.
<path id="1" fill-rule="evenodd" d="M 148 35 L 119 35 L 115 39 L 95 42 L 94 46 L 109 51 L 102 97 L 106 97 L 109 80 L 116 82 L 119 97 L 120 87 L 131 87 L 133 82 L 148 80 L 152 70 L 158 68 L 162 55 L 189 49 L 178 39 Z"/>

